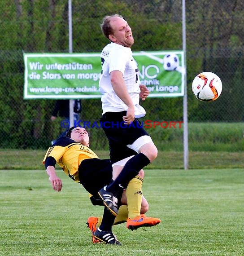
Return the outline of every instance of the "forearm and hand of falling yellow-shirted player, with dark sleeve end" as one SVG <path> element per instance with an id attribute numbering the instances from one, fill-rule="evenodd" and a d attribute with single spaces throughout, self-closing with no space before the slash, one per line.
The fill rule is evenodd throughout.
<path id="1" fill-rule="evenodd" d="M 56 164 L 56 160 L 53 157 L 48 157 L 45 160 L 45 168 L 46 168 L 47 174 L 49 175 L 49 181 L 52 184 L 52 188 L 53 190 L 59 192 L 62 189 L 62 181 L 57 176 L 57 173 L 55 171 L 55 164 Z"/>

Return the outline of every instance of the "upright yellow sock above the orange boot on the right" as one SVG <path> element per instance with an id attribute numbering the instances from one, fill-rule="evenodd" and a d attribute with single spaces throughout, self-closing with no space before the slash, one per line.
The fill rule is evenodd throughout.
<path id="1" fill-rule="evenodd" d="M 126 197 L 128 205 L 128 217 L 134 219 L 140 215 L 142 201 L 142 183 L 143 179 L 139 176 L 133 178 L 127 188 Z"/>

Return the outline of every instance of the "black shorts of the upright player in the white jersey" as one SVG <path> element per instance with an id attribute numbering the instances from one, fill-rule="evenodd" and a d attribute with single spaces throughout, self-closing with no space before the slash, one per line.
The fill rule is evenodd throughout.
<path id="1" fill-rule="evenodd" d="M 137 154 L 137 152 L 128 148 L 127 145 L 131 145 L 141 136 L 148 135 L 137 118 L 130 125 L 123 124 L 124 115 L 126 115 L 126 111 L 106 112 L 100 119 L 103 124 L 103 130 L 109 140 L 112 163 Z"/>

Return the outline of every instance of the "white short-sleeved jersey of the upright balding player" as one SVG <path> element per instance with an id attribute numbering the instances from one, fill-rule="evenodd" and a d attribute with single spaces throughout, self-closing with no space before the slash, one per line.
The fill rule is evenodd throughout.
<path id="1" fill-rule="evenodd" d="M 102 93 L 103 114 L 106 112 L 120 112 L 127 110 L 126 104 L 113 90 L 110 73 L 120 71 L 125 80 L 127 91 L 135 106 L 135 117 L 143 117 L 146 111 L 139 105 L 140 80 L 139 69 L 132 56 L 131 48 L 120 44 L 110 43 L 105 46 L 101 54 L 102 73 L 99 81 L 100 93 Z"/>

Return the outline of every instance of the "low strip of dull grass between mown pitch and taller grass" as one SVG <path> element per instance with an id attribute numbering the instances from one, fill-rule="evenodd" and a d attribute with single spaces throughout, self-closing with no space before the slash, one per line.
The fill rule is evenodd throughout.
<path id="1" fill-rule="evenodd" d="M 46 150 L 0 150 L 0 169 L 44 169 L 42 160 Z M 108 151 L 96 151 L 101 159 L 109 158 Z M 189 152 L 190 169 L 244 168 L 241 152 Z M 145 169 L 183 169 L 183 152 L 159 151 L 157 159 Z"/>

